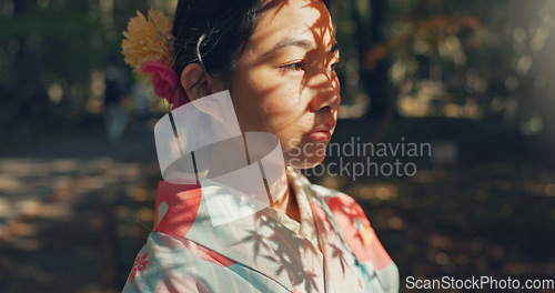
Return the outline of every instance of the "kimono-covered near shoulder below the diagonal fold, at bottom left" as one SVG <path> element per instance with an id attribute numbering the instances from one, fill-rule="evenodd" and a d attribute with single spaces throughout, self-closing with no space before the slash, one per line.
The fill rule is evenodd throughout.
<path id="1" fill-rule="evenodd" d="M 286 292 L 266 275 L 194 241 L 152 232 L 137 256 L 123 291 Z"/>

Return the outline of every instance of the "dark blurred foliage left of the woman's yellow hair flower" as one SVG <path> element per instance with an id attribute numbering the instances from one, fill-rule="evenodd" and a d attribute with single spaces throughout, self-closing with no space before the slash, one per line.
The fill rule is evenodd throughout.
<path id="1" fill-rule="evenodd" d="M 147 1 L 0 1 L 2 108 L 26 118 L 53 111 L 53 104 L 83 114 L 91 73 L 123 65 L 121 31 L 135 9 L 147 7 Z M 52 98 L 60 90 L 61 97 Z"/>

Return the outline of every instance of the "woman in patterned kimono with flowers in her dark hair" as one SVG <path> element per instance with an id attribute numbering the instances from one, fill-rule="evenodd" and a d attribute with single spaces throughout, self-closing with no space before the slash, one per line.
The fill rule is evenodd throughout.
<path id="1" fill-rule="evenodd" d="M 137 58 L 133 50 L 142 47 L 133 47 L 135 34 L 152 36 L 145 30 L 130 30 L 124 33 L 125 61 L 149 73 L 155 92 L 175 109 L 157 125 L 162 132 L 175 134 L 160 139 L 158 132 L 159 159 L 165 155 L 164 150 L 172 152 L 164 149 L 165 139 L 188 146 L 175 146 L 181 159 L 174 158 L 173 163 L 173 159 L 161 161 L 165 181 L 159 185 L 157 225 L 139 252 L 123 291 L 396 292 L 397 269 L 359 204 L 343 193 L 312 185 L 296 171 L 324 159 L 341 100 L 335 73 L 337 43 L 326 6 L 320 0 L 180 0 L 173 26 L 160 14 L 149 17 L 158 19 L 152 22 L 163 37 L 155 42 L 158 49 L 148 58 Z M 142 21 L 147 23 L 144 18 Z M 168 27 L 172 27 L 172 33 L 164 37 Z M 163 53 L 163 48 L 173 50 Z M 238 133 L 225 132 L 221 140 L 214 140 L 214 133 L 221 133 L 214 130 L 216 121 L 221 122 L 219 128 L 229 130 L 234 129 L 233 118 L 222 122 L 213 114 L 213 109 L 222 105 L 206 110 L 212 101 L 225 101 L 229 95 L 232 105 L 224 109 L 234 111 L 244 142 L 240 146 L 232 138 Z M 193 112 L 209 113 L 212 122 L 198 122 Z M 206 143 L 191 148 L 194 140 L 181 134 L 198 132 L 198 127 L 205 124 L 212 131 L 212 142 L 224 141 L 236 148 Z M 249 133 L 271 133 L 278 145 L 261 146 L 264 154 L 256 156 L 258 148 L 252 146 L 255 143 L 251 143 L 254 140 Z M 262 140 L 260 145 L 272 145 L 271 139 Z M 182 151 L 188 148 L 190 153 Z M 242 148 L 246 151 L 245 168 L 262 162 L 259 171 L 269 200 L 262 200 L 262 205 L 256 205 L 260 201 L 246 202 L 249 212 L 235 213 L 230 210 L 245 204 L 222 204 L 213 199 L 226 199 L 231 190 L 249 189 L 245 182 L 249 185 L 254 180 L 228 180 L 233 189 L 226 189 L 212 183 L 222 174 L 233 173 L 229 166 L 215 172 L 218 175 L 208 174 L 226 164 L 224 156 L 235 156 L 216 160 L 214 150 Z M 272 150 L 281 150 L 282 158 L 281 164 L 273 160 L 276 164 L 272 170 L 281 165 L 283 171 L 275 180 L 263 162 Z M 210 156 L 205 165 L 198 163 L 205 156 L 202 153 Z M 194 178 L 175 175 L 183 174 L 176 171 L 175 162 L 185 156 L 193 162 Z M 206 188 L 206 181 L 212 185 Z M 213 208 L 218 204 L 218 211 L 232 216 L 218 218 Z"/>

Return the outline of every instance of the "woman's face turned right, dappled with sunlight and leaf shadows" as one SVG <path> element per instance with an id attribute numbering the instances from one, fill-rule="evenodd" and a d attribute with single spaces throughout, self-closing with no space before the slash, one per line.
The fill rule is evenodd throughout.
<path id="1" fill-rule="evenodd" d="M 319 0 L 270 0 L 236 62 L 231 94 L 241 130 L 270 132 L 285 162 L 312 168 L 335 129 L 339 51 Z"/>

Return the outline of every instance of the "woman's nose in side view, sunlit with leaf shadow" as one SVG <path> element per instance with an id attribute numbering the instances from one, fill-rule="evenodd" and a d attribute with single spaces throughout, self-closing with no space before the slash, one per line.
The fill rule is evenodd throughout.
<path id="1" fill-rule="evenodd" d="M 340 82 L 335 72 L 320 73 L 310 81 L 313 98 L 310 104 L 312 112 L 321 110 L 336 111 L 340 108 Z"/>

